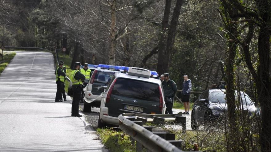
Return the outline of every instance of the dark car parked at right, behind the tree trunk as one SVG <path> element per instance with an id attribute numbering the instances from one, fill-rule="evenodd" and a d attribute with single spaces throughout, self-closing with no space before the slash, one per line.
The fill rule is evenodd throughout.
<path id="1" fill-rule="evenodd" d="M 241 97 L 239 101 L 242 104 L 240 104 L 241 106 L 238 109 L 242 109 L 249 115 L 253 115 L 256 112 L 256 107 L 249 96 L 244 92 L 238 93 L 235 91 L 235 94 L 236 99 L 238 99 L 238 96 Z M 202 92 L 192 108 L 191 128 L 195 130 L 199 128 L 199 125 L 204 126 L 221 120 L 225 117 L 227 109 L 224 89 L 209 89 Z"/>

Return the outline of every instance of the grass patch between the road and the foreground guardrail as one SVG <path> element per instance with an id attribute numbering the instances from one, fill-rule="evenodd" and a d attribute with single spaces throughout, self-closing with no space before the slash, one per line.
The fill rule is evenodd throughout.
<path id="1" fill-rule="evenodd" d="M 136 146 L 130 141 L 130 136 L 122 131 L 113 131 L 110 128 L 97 129 L 102 143 L 112 152 L 136 152 Z"/>

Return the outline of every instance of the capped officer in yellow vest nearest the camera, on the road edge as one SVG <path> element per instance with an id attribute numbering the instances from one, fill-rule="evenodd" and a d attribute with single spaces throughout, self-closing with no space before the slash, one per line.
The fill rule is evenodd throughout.
<path id="1" fill-rule="evenodd" d="M 82 81 L 85 80 L 85 76 L 80 72 L 80 62 L 75 62 L 74 68 L 71 71 L 71 82 L 73 90 L 73 100 L 71 104 L 71 116 L 73 117 L 82 117 L 79 115 L 79 102 L 81 99 L 82 93 Z"/>

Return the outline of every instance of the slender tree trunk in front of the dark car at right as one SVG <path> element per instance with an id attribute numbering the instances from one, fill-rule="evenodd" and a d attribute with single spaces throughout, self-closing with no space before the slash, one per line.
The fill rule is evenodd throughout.
<path id="1" fill-rule="evenodd" d="M 226 60 L 226 99 L 228 107 L 228 119 L 229 119 L 229 134 L 227 136 L 227 151 L 239 151 L 238 149 L 238 128 L 236 127 L 236 115 L 235 115 L 235 73 L 233 71 L 235 57 L 237 53 L 237 37 L 238 37 L 238 24 L 236 21 L 238 18 L 232 18 L 232 14 L 237 13 L 237 10 L 233 9 L 234 4 L 229 4 L 225 0 L 222 0 L 224 6 L 224 15 L 227 21 L 224 21 L 225 29 L 228 37 L 228 55 Z"/>

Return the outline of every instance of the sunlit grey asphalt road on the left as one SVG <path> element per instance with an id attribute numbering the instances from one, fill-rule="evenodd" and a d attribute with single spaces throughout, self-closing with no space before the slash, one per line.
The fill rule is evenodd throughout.
<path id="1" fill-rule="evenodd" d="M 107 151 L 71 99 L 55 103 L 54 59 L 17 52 L 0 76 L 0 151 Z"/>

